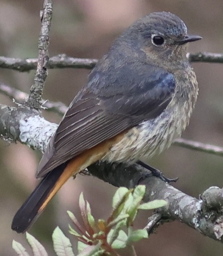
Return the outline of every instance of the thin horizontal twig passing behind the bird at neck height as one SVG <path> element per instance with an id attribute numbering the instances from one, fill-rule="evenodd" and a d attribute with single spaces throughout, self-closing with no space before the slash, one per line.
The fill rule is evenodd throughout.
<path id="1" fill-rule="evenodd" d="M 187 54 L 189 61 L 191 62 L 212 62 L 223 63 L 223 54 L 211 53 L 211 52 L 199 52 Z M 0 68 L 8 68 L 17 70 L 20 72 L 28 72 L 35 70 L 37 67 L 38 59 L 18 59 L 0 56 Z M 47 68 L 86 68 L 91 69 L 97 63 L 97 59 L 81 59 L 68 57 L 65 54 L 59 54 L 57 56 L 50 57 Z"/>

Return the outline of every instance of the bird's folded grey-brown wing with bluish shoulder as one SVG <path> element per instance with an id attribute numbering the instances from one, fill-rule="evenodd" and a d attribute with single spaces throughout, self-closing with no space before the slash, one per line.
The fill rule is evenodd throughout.
<path id="1" fill-rule="evenodd" d="M 117 88 L 94 77 L 69 106 L 41 159 L 37 177 L 43 177 L 84 150 L 160 115 L 175 91 L 172 73 L 161 69 L 157 72 L 157 68 L 154 74 L 137 81 L 124 77 L 125 81 L 120 81 Z"/>

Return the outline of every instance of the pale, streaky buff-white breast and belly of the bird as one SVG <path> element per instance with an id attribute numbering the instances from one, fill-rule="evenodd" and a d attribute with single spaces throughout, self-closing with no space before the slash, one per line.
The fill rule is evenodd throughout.
<path id="1" fill-rule="evenodd" d="M 180 77 L 181 87 L 177 86 L 176 94 L 166 109 L 158 117 L 130 129 L 102 160 L 136 162 L 139 159 L 148 159 L 170 147 L 174 139 L 181 136 L 189 124 L 195 106 L 198 84 L 192 68 L 189 67 L 187 72 L 179 70 L 179 73 L 181 75 L 176 75 L 175 78 Z"/>

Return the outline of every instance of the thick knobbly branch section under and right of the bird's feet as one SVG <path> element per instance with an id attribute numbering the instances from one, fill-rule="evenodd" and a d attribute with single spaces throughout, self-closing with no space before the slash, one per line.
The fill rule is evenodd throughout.
<path id="1" fill-rule="evenodd" d="M 114 186 L 133 188 L 138 184 L 145 184 L 146 193 L 143 201 L 164 199 L 168 202 L 168 205 L 158 209 L 156 211 L 158 215 L 151 219 L 152 224 L 148 227 L 149 233 L 162 216 L 164 221 L 167 218 L 180 220 L 203 235 L 223 242 L 223 204 L 222 199 L 218 200 L 219 195 L 223 194 L 223 189 L 215 187 L 215 190 L 211 191 L 210 188 L 203 193 L 206 195 L 205 199 L 201 196 L 199 200 L 166 184 L 158 177 L 152 176 L 140 165 L 97 162 L 88 167 L 88 171 Z M 215 208 L 208 207 L 210 203 L 207 202 L 210 201 L 214 202 Z"/>

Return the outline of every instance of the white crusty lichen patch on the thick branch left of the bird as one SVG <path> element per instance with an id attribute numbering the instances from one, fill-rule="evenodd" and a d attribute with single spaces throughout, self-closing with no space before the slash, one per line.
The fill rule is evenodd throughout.
<path id="1" fill-rule="evenodd" d="M 19 121 L 19 138 L 29 147 L 45 151 L 58 125 L 36 115 Z"/>

